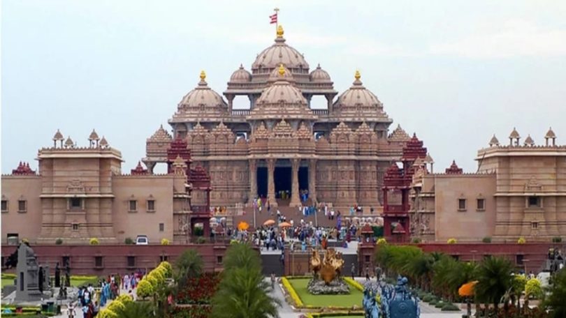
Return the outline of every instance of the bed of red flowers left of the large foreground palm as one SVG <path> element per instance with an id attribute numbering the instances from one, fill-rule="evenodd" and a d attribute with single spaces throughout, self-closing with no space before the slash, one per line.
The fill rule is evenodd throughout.
<path id="1" fill-rule="evenodd" d="M 190 278 L 184 289 L 175 296 L 175 301 L 179 304 L 210 304 L 219 283 L 218 273 L 204 273 L 201 277 Z"/>

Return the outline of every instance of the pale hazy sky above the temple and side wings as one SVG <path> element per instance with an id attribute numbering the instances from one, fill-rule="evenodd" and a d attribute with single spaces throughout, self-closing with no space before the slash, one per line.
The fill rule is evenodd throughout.
<path id="1" fill-rule="evenodd" d="M 544 3 L 544 4 L 543 4 Z M 273 43 L 364 85 L 437 171 L 476 169 L 493 133 L 566 139 L 566 1 L 1 1 L 1 160 L 36 169 L 57 128 L 87 145 L 92 128 L 122 151 L 123 172 L 206 70 L 222 93 Z M 167 125 L 168 129 L 170 127 Z"/>

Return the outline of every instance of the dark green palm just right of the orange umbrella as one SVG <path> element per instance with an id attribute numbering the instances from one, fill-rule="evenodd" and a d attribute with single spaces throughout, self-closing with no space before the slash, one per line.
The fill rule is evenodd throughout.
<path id="1" fill-rule="evenodd" d="M 477 271 L 478 283 L 474 287 L 478 299 L 485 303 L 493 303 L 497 311 L 502 297 L 511 289 L 512 271 L 513 266 L 509 259 L 493 256 L 484 258 Z M 507 301 L 504 305 L 507 310 Z"/>

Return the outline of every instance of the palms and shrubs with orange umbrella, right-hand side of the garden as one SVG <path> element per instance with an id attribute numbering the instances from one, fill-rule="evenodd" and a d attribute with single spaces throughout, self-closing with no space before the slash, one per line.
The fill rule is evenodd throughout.
<path id="1" fill-rule="evenodd" d="M 455 303 L 465 303 L 467 315 L 473 304 L 476 317 L 566 317 L 565 270 L 555 273 L 545 290 L 536 278 L 514 274 L 516 268 L 504 257 L 459 262 L 442 253 L 383 243 L 375 260 L 388 277 L 409 278 L 423 302 L 442 310 L 458 310 Z"/>

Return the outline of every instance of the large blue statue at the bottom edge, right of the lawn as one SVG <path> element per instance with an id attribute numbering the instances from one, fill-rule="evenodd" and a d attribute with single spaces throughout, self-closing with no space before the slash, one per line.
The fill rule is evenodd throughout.
<path id="1" fill-rule="evenodd" d="M 397 286 L 382 286 L 382 310 L 386 318 L 419 318 L 419 298 L 407 289 L 407 278 L 399 276 Z"/>

